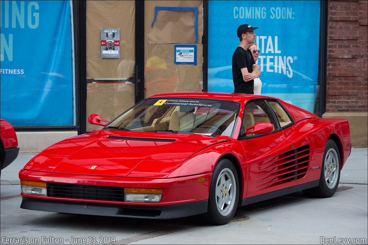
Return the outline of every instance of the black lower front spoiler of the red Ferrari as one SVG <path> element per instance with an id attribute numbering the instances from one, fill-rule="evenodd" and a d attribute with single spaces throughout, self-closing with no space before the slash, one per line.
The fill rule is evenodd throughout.
<path id="1" fill-rule="evenodd" d="M 74 214 L 129 217 L 142 219 L 176 219 L 206 213 L 208 200 L 168 206 L 138 206 L 110 203 L 73 202 L 22 197 L 21 208 Z"/>

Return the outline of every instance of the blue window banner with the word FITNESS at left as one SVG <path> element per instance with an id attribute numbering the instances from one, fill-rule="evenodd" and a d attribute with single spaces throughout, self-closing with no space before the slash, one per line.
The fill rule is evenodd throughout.
<path id="1" fill-rule="evenodd" d="M 1 1 L 1 118 L 75 125 L 70 1 Z"/>

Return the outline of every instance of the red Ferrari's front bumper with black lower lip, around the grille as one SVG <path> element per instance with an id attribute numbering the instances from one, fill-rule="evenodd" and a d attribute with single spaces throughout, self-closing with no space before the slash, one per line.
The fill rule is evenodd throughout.
<path id="1" fill-rule="evenodd" d="M 138 178 L 64 174 L 22 169 L 21 180 L 103 187 L 163 189 L 158 203 L 137 203 L 79 197 L 35 196 L 22 193 L 21 208 L 60 213 L 173 219 L 207 212 L 212 173 L 178 178 Z M 199 181 L 201 180 L 201 181 Z M 203 181 L 204 180 L 204 181 Z M 203 181 L 203 182 L 202 182 Z"/>

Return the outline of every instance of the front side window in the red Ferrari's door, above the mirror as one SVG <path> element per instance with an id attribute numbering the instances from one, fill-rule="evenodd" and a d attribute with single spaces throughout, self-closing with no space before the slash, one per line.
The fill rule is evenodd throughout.
<path id="1" fill-rule="evenodd" d="M 249 102 L 245 106 L 243 114 L 244 129 L 252 127 L 256 123 L 271 123 L 273 130 L 277 129 L 275 120 L 264 101 Z M 248 136 L 252 136 L 249 134 Z"/>

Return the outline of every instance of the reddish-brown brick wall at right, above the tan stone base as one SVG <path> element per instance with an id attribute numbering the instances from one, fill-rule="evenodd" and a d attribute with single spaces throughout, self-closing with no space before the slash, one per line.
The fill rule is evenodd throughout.
<path id="1" fill-rule="evenodd" d="M 326 112 L 367 112 L 367 0 L 328 1 Z"/>

